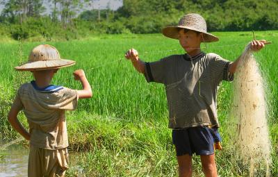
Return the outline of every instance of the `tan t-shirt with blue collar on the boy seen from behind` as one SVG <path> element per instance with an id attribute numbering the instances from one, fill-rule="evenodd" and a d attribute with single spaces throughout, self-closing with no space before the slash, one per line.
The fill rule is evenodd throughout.
<path id="1" fill-rule="evenodd" d="M 13 107 L 23 110 L 28 120 L 30 144 L 54 150 L 69 145 L 65 110 L 74 110 L 77 101 L 76 90 L 55 85 L 40 89 L 32 81 L 19 87 Z"/>

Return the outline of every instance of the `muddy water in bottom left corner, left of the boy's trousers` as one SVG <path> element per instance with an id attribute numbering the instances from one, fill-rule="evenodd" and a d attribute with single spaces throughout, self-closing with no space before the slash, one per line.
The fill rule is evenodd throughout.
<path id="1" fill-rule="evenodd" d="M 28 149 L 19 144 L 0 149 L 0 176 L 27 176 Z"/>

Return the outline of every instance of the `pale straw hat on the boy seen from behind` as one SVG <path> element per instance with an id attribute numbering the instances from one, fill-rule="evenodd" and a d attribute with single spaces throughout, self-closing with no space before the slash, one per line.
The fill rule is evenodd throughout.
<path id="1" fill-rule="evenodd" d="M 60 58 L 59 51 L 48 44 L 35 47 L 29 56 L 28 62 L 15 67 L 19 71 L 40 71 L 47 69 L 58 69 L 75 65 L 75 61 Z"/>

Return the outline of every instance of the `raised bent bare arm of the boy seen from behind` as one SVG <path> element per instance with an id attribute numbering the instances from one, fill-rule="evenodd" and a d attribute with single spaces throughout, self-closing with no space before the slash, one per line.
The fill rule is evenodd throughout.
<path id="1" fill-rule="evenodd" d="M 83 87 L 83 90 L 77 90 L 77 93 L 79 94 L 79 99 L 88 99 L 92 97 L 92 88 L 85 76 L 85 72 L 83 71 L 83 69 L 78 69 L 74 71 L 73 74 L 74 74 L 74 79 L 76 81 L 81 81 Z"/>

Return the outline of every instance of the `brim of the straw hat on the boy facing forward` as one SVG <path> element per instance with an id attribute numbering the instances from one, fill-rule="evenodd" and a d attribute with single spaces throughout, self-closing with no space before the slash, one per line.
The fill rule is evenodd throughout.
<path id="1" fill-rule="evenodd" d="M 206 31 L 200 31 L 200 30 L 197 30 L 196 28 L 193 28 L 190 26 L 167 26 L 162 29 L 162 33 L 166 37 L 170 37 L 172 39 L 179 40 L 179 29 L 180 28 L 186 28 L 189 30 L 199 31 L 201 33 L 204 33 L 204 39 L 202 40 L 202 42 L 217 42 L 219 40 L 218 37 L 216 37 L 215 35 L 213 35 L 211 33 L 207 33 Z"/>

